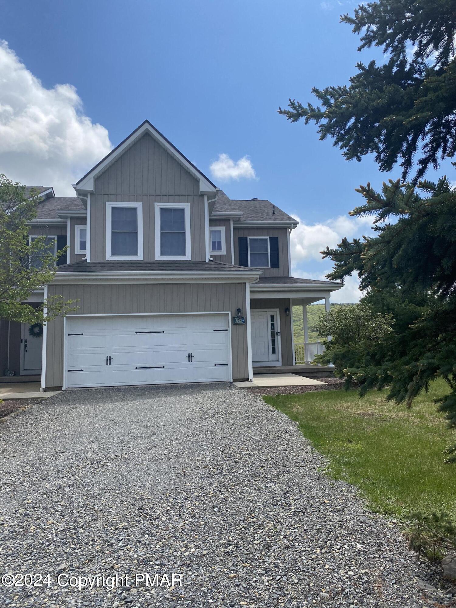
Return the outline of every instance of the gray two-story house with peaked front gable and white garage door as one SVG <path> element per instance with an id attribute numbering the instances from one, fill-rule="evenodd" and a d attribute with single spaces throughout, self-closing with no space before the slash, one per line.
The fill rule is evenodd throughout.
<path id="1" fill-rule="evenodd" d="M 297 221 L 269 201 L 230 200 L 148 121 L 74 188 L 74 198 L 47 188 L 30 238 L 69 244 L 43 295 L 77 311 L 41 337 L 25 325 L 6 332 L 4 369 L 41 374 L 44 390 L 244 380 L 255 367 L 292 366 L 292 306 L 328 306 L 341 287 L 291 277 Z"/>

